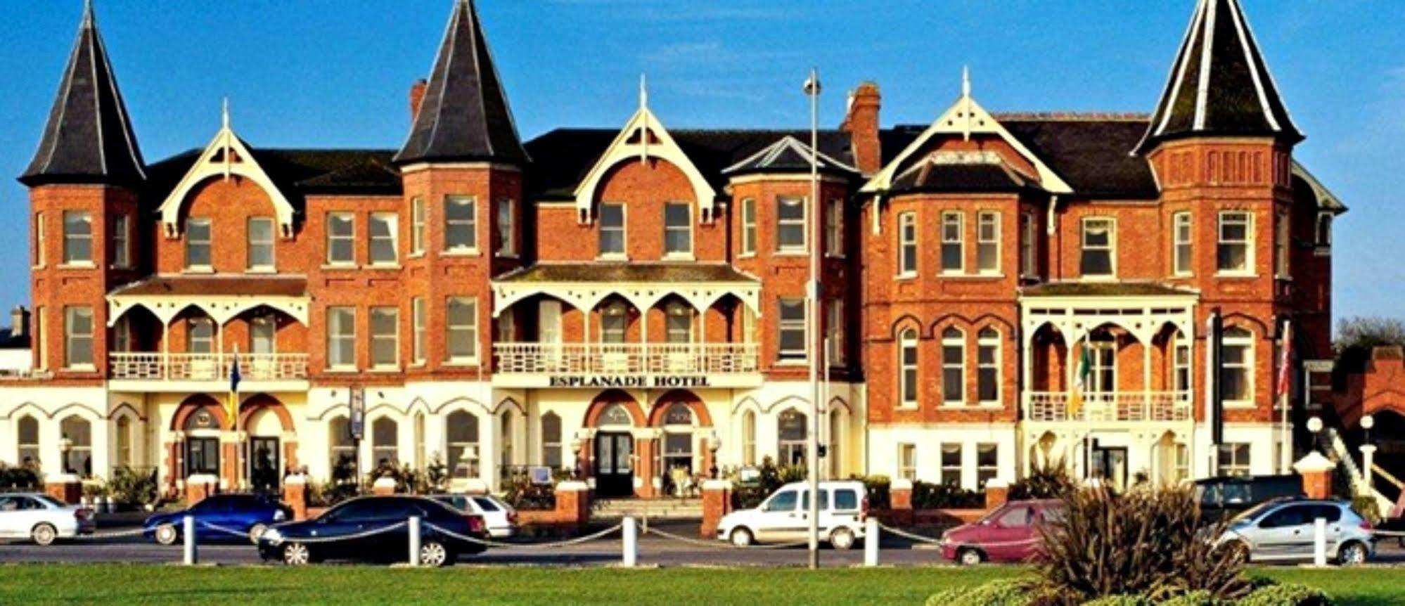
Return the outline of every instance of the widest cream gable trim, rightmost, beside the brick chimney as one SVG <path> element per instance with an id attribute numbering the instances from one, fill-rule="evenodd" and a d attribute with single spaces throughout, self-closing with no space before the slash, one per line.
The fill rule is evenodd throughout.
<path id="1" fill-rule="evenodd" d="M 985 111 L 975 98 L 971 97 L 971 77 L 969 73 L 962 79 L 961 84 L 961 98 L 957 100 L 932 127 L 927 127 L 920 136 L 912 141 L 906 149 L 902 150 L 888 166 L 884 166 L 867 184 L 864 184 L 861 193 L 875 194 L 888 191 L 892 187 L 892 180 L 896 176 L 898 167 L 902 166 L 915 153 L 922 150 L 937 135 L 961 135 L 964 139 L 969 141 L 971 135 L 995 135 L 1003 139 L 1010 148 L 1020 153 L 1026 160 L 1034 165 L 1034 170 L 1038 173 L 1040 186 L 1045 191 L 1052 194 L 1072 194 L 1073 188 L 1064 181 L 1054 169 L 1050 169 L 1043 159 L 1034 155 L 1030 148 L 1026 148 L 1020 139 L 1016 139 L 1010 131 L 1006 131 L 989 111 Z"/>

